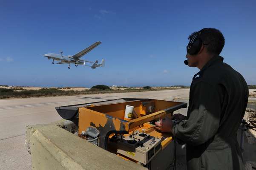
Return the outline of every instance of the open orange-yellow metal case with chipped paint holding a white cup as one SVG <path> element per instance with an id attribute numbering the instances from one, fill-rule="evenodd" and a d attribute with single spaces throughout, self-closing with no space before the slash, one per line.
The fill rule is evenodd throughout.
<path id="1" fill-rule="evenodd" d="M 141 103 L 147 103 L 148 105 L 155 104 L 155 112 L 144 115 L 145 112 L 141 109 Z M 130 121 L 124 120 L 124 111 L 126 105 L 134 106 L 134 111 L 140 114 L 141 117 L 132 119 Z M 146 107 L 147 107 L 146 106 Z M 187 103 L 172 102 L 156 99 L 135 100 L 132 102 L 121 102 L 108 105 L 98 105 L 86 108 L 79 108 L 79 131 L 86 130 L 87 127 L 92 126 L 99 130 L 99 146 L 106 148 L 106 137 L 117 131 L 123 131 L 123 133 L 129 134 L 133 130 L 145 129 L 149 131 L 151 136 L 162 137 L 162 148 L 169 144 L 172 140 L 170 134 L 161 133 L 155 129 L 154 125 L 149 122 L 158 120 L 164 116 L 171 116 L 173 111 L 179 108 L 186 108 Z M 106 136 L 108 135 L 108 136 Z M 105 142 L 105 143 L 104 143 Z"/>

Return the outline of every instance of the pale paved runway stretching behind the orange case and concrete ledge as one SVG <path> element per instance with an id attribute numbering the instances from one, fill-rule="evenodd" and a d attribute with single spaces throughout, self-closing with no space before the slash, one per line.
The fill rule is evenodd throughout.
<path id="1" fill-rule="evenodd" d="M 31 156 L 25 147 L 26 125 L 60 120 L 55 107 L 118 98 L 188 99 L 189 89 L 81 96 L 56 96 L 0 100 L 0 170 L 31 170 Z"/>

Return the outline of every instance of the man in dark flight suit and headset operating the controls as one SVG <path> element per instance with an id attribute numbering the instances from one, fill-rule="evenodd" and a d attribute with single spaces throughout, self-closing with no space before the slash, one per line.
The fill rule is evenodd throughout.
<path id="1" fill-rule="evenodd" d="M 181 120 L 176 125 L 161 119 L 156 128 L 187 144 L 188 170 L 243 170 L 236 132 L 247 106 L 247 84 L 219 56 L 225 41 L 219 30 L 204 28 L 189 40 L 185 64 L 200 71 L 190 86 L 187 117 L 174 115 Z"/>

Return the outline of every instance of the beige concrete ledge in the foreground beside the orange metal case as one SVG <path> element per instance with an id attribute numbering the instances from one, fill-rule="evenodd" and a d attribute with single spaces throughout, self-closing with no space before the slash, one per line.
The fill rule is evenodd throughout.
<path id="1" fill-rule="evenodd" d="M 147 170 L 75 136 L 56 124 L 27 127 L 26 145 L 32 153 L 33 169 Z"/>

